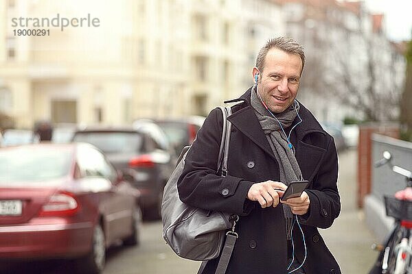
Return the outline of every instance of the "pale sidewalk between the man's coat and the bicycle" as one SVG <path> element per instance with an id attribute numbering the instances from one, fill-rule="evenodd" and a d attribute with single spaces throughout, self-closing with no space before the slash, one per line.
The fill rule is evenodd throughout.
<path id="1" fill-rule="evenodd" d="M 319 229 L 344 274 L 368 273 L 378 256 L 371 250 L 376 239 L 365 225 L 363 210 L 356 206 L 356 153 L 352 149 L 339 154 L 341 215 L 329 229 Z"/>

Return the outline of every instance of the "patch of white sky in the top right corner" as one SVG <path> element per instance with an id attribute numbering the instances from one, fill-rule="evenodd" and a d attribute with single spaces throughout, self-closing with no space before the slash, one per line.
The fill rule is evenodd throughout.
<path id="1" fill-rule="evenodd" d="M 411 40 L 412 0 L 365 0 L 369 10 L 385 14 L 385 27 L 391 40 Z"/>

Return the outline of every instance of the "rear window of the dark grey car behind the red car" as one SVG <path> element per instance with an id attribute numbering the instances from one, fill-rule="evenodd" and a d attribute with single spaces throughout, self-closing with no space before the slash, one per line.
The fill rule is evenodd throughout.
<path id="1" fill-rule="evenodd" d="M 104 153 L 141 150 L 142 136 L 137 132 L 78 132 L 75 142 L 88 142 Z"/>

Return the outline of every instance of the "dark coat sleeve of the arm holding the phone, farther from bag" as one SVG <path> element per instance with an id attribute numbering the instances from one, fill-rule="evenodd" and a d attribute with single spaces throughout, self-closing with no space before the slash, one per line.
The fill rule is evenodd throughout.
<path id="1" fill-rule="evenodd" d="M 337 187 L 338 156 L 332 137 L 329 139 L 321 168 L 314 177 L 313 186 L 306 190 L 310 199 L 309 212 L 300 217 L 304 225 L 328 228 L 341 212 L 341 197 Z"/>

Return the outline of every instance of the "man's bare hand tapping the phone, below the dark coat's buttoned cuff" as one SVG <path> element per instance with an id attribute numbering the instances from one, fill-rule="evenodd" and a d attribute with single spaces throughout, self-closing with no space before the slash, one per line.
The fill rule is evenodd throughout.
<path id="1" fill-rule="evenodd" d="M 269 206 L 275 208 L 279 204 L 279 198 L 282 197 L 287 187 L 284 183 L 271 180 L 256 183 L 249 188 L 247 199 L 258 201 L 262 208 L 268 208 Z"/>

